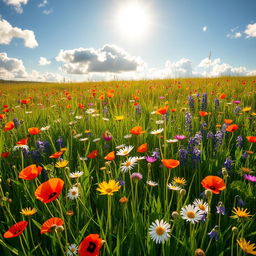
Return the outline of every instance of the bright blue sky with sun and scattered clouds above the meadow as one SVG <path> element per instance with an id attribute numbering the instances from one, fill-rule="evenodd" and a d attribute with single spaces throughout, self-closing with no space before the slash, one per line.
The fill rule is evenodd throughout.
<path id="1" fill-rule="evenodd" d="M 255 0 L 0 0 L 0 79 L 256 75 Z"/>

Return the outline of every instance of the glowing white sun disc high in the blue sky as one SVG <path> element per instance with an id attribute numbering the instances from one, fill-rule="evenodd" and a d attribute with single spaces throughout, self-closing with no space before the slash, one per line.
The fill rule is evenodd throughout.
<path id="1" fill-rule="evenodd" d="M 126 38 L 140 39 L 147 34 L 150 27 L 149 11 L 141 3 L 128 3 L 118 10 L 116 25 Z"/>

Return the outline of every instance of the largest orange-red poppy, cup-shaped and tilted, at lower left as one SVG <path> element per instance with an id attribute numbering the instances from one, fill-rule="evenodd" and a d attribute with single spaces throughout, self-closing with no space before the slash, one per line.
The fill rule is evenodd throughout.
<path id="1" fill-rule="evenodd" d="M 36 199 L 43 203 L 50 203 L 61 193 L 64 181 L 59 178 L 52 178 L 42 183 L 35 191 Z"/>

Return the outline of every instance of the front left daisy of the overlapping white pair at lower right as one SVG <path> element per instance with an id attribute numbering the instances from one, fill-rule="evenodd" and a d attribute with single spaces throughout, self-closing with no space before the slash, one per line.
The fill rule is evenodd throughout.
<path id="1" fill-rule="evenodd" d="M 197 206 L 189 204 L 181 208 L 180 215 L 182 219 L 195 224 L 203 218 L 204 212 Z"/>

